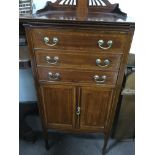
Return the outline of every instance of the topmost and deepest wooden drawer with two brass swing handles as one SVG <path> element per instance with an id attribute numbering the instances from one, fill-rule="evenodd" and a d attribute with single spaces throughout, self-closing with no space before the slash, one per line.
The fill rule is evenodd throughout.
<path id="1" fill-rule="evenodd" d="M 102 31 L 66 30 L 34 28 L 32 29 L 34 48 L 43 49 L 83 49 L 98 52 L 123 52 L 126 35 L 104 33 Z"/>

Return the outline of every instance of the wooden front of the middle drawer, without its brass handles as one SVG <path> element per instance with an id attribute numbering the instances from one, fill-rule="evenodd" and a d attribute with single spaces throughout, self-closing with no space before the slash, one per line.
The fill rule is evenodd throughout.
<path id="1" fill-rule="evenodd" d="M 46 57 L 54 58 L 55 56 L 59 57 L 59 61 L 56 64 L 48 63 Z M 121 54 L 110 54 L 110 53 L 101 53 L 91 54 L 90 51 L 80 52 L 69 52 L 64 50 L 37 50 L 35 52 L 35 57 L 37 61 L 37 66 L 42 67 L 63 67 L 63 68 L 84 68 L 84 69 L 93 69 L 93 70 L 112 70 L 118 71 L 121 63 Z M 96 60 L 100 59 L 101 65 L 96 64 Z M 108 59 L 110 64 L 108 66 L 104 65 L 104 61 Z M 74 60 L 74 61 L 73 61 Z"/>

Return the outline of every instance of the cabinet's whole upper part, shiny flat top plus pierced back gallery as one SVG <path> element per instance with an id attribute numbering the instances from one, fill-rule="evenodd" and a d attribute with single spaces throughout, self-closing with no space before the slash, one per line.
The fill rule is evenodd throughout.
<path id="1" fill-rule="evenodd" d="M 20 21 L 134 25 L 134 21 L 120 10 L 119 4 L 111 4 L 108 0 L 56 0 L 54 3 L 48 1 L 36 14 L 20 15 Z"/>

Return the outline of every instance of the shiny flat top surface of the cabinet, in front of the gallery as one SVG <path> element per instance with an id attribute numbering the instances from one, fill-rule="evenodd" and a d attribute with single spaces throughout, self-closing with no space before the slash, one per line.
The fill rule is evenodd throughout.
<path id="1" fill-rule="evenodd" d="M 125 24 L 130 23 L 134 24 L 134 20 L 130 17 L 126 17 L 125 19 L 117 16 L 116 14 L 112 13 L 88 13 L 84 18 L 80 18 L 77 16 L 76 12 L 70 11 L 46 11 L 44 13 L 39 14 L 31 14 L 31 15 L 20 15 L 20 21 L 34 21 L 34 22 L 46 22 L 46 23 L 53 23 L 53 22 L 74 22 L 74 23 L 89 23 L 89 24 Z"/>

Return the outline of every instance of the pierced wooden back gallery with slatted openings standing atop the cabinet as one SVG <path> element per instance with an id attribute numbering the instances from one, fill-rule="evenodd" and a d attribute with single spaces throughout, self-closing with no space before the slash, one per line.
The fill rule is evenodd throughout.
<path id="1" fill-rule="evenodd" d="M 126 19 L 127 14 L 122 12 L 119 8 L 119 4 L 111 4 L 108 0 L 91 0 L 92 4 L 89 4 L 89 0 L 73 0 L 63 1 L 57 0 L 52 3 L 47 1 L 45 7 L 37 11 L 37 13 L 53 10 L 53 11 L 73 11 L 80 19 L 85 19 L 88 12 L 104 12 L 113 13 L 120 18 Z"/>

